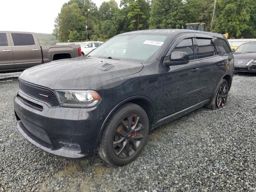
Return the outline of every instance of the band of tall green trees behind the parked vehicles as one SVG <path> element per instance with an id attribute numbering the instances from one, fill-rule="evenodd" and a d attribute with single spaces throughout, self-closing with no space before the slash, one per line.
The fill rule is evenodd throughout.
<path id="1" fill-rule="evenodd" d="M 186 28 L 186 23 L 205 22 L 210 31 L 214 0 L 115 0 L 99 8 L 92 0 L 70 0 L 56 18 L 54 36 L 60 42 L 105 41 L 133 30 Z M 218 0 L 214 32 L 230 38 L 256 37 L 255 0 Z"/>

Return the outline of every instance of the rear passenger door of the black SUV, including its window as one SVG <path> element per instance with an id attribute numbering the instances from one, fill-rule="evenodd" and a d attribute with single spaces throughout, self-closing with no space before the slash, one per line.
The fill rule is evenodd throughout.
<path id="1" fill-rule="evenodd" d="M 214 38 L 196 35 L 197 60 L 200 62 L 200 83 L 198 102 L 211 99 L 224 72 L 225 61 L 218 55 L 213 43 Z"/>

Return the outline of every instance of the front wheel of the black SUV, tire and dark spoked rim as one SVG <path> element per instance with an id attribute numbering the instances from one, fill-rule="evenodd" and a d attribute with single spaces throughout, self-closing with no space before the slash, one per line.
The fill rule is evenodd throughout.
<path id="1" fill-rule="evenodd" d="M 99 155 L 102 160 L 114 166 L 128 164 L 142 152 L 148 134 L 146 112 L 136 104 L 124 104 L 112 114 L 105 126 Z"/>

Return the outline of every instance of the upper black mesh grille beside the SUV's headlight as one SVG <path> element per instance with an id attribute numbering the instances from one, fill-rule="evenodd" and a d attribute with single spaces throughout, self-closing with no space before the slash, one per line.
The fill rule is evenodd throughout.
<path id="1" fill-rule="evenodd" d="M 50 89 L 42 88 L 20 80 L 20 90 L 34 98 L 37 98 L 38 100 L 49 103 L 51 106 L 59 106 L 56 95 Z M 48 96 L 48 98 L 46 96 Z"/>

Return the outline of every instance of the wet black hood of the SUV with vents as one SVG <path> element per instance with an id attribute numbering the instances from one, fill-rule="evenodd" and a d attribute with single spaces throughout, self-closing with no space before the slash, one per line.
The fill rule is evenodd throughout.
<path id="1" fill-rule="evenodd" d="M 97 90 L 102 82 L 135 74 L 142 68 L 140 62 L 80 57 L 29 68 L 19 78 L 50 89 Z"/>

